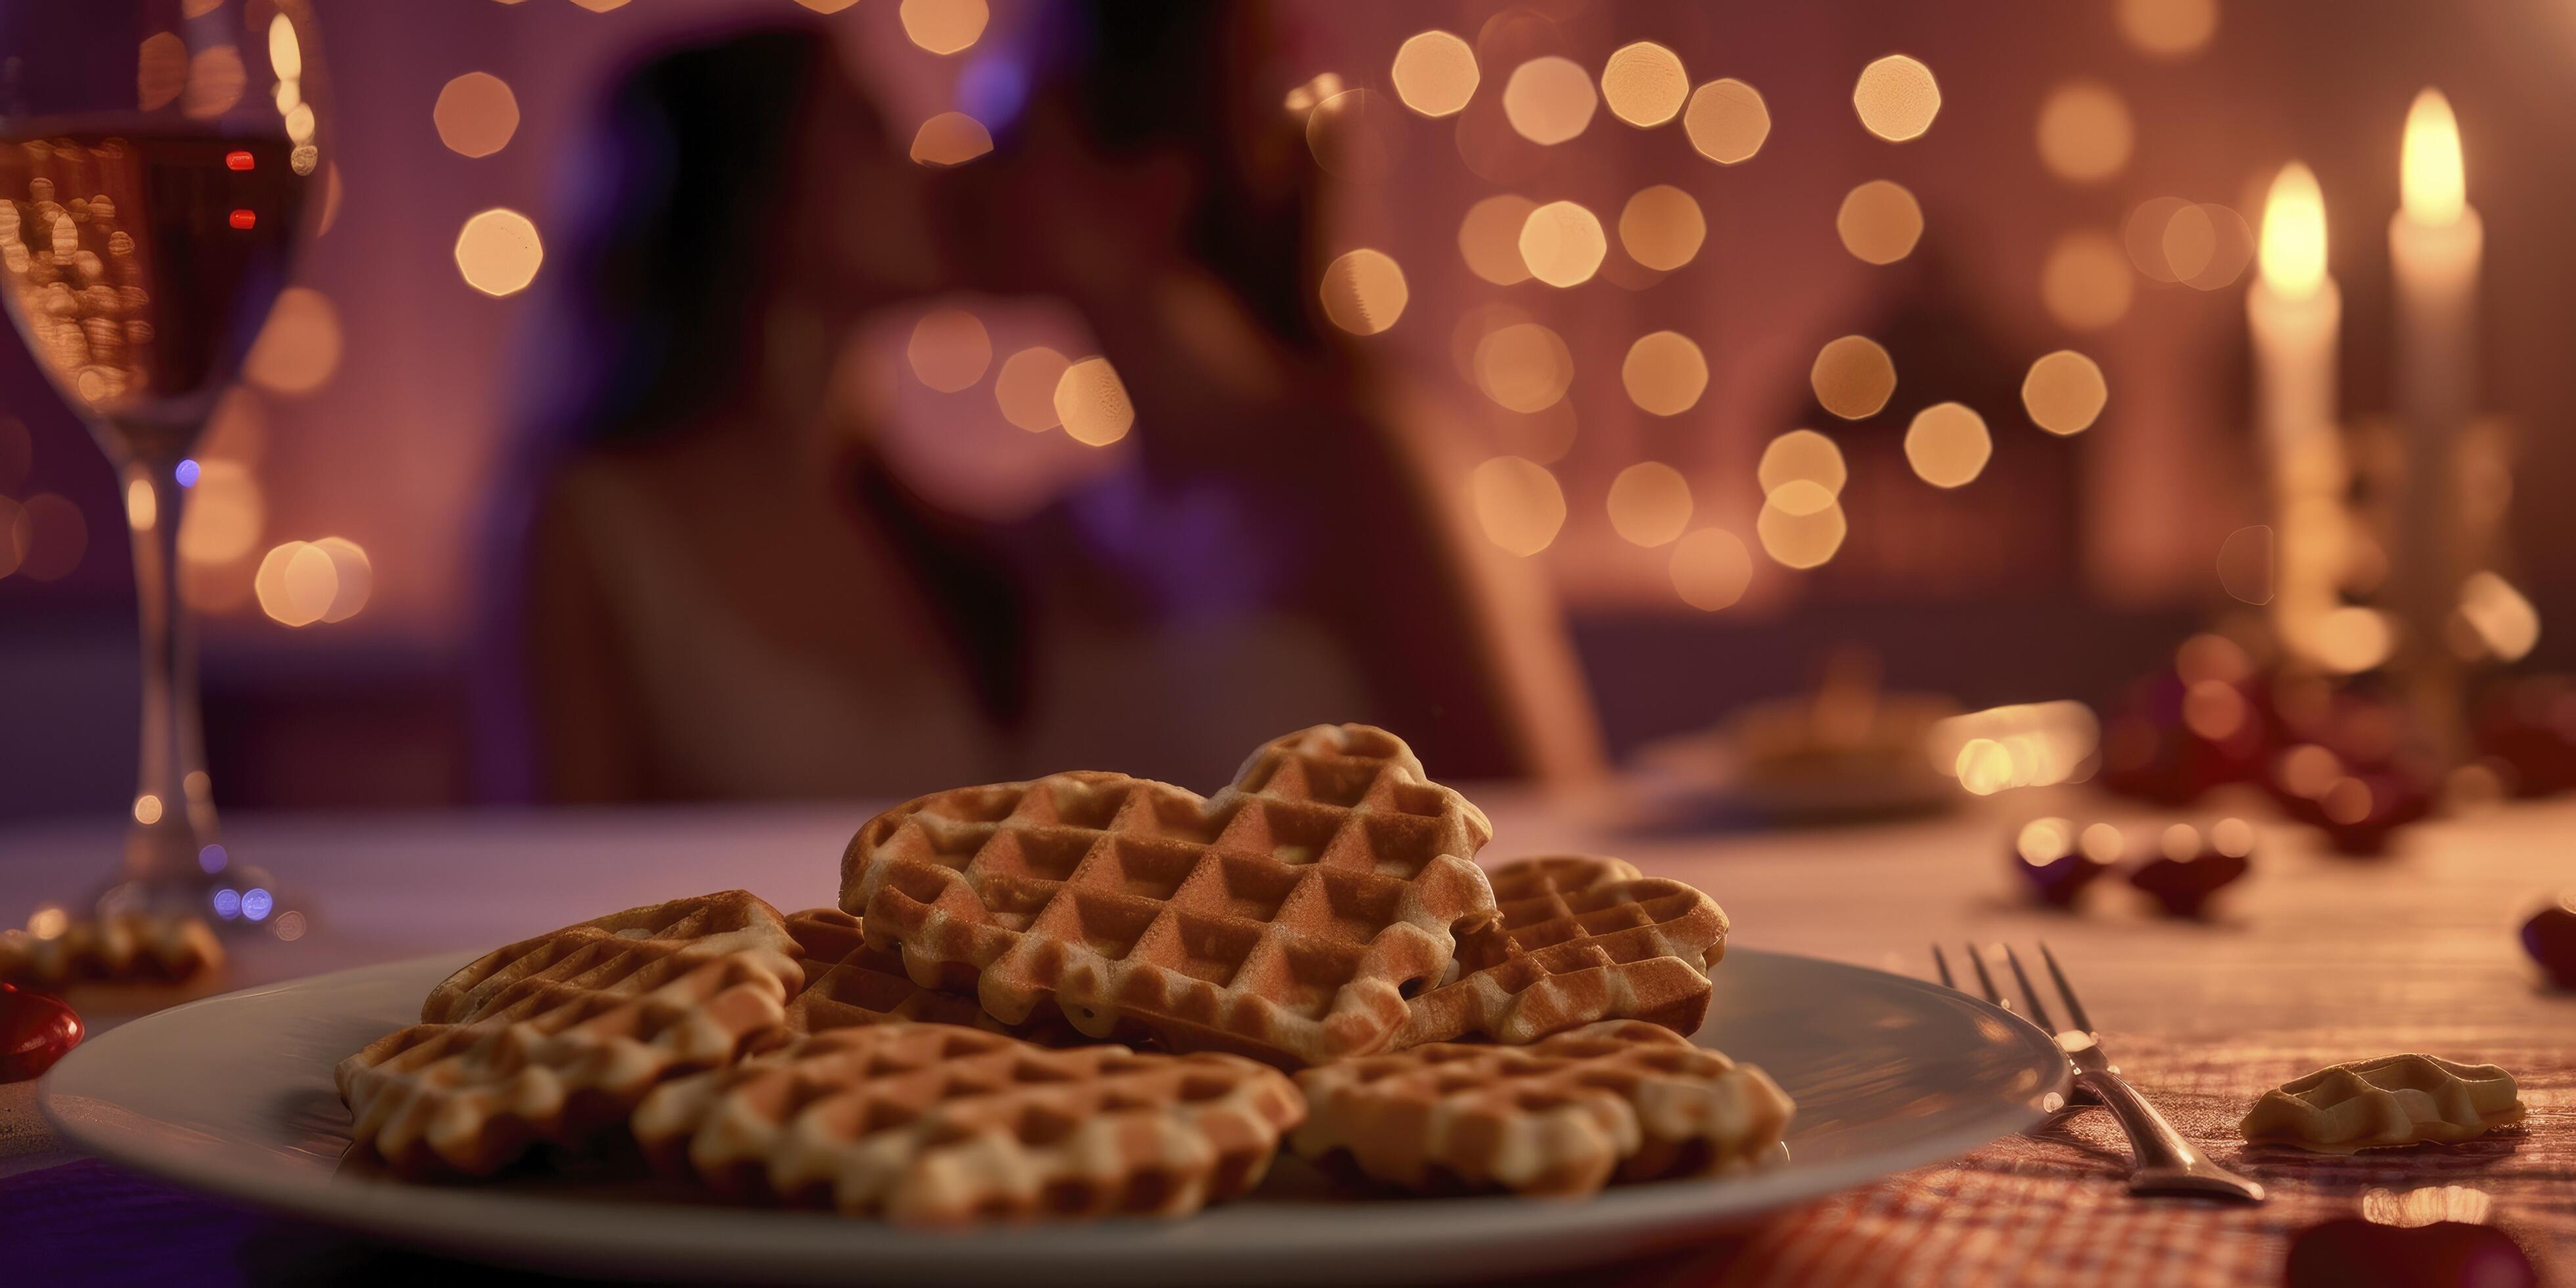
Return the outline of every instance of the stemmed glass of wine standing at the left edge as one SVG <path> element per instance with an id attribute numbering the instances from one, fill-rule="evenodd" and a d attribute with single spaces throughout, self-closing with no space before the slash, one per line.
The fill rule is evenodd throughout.
<path id="1" fill-rule="evenodd" d="M 224 873 L 178 528 L 188 451 L 322 214 L 317 54 L 307 0 L 0 0 L 0 301 L 134 533 L 142 770 L 111 909 L 242 925 L 273 899 Z"/>

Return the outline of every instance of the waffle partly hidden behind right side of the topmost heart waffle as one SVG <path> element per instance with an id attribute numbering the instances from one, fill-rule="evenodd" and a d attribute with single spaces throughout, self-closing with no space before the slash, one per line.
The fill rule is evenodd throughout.
<path id="1" fill-rule="evenodd" d="M 1682 881 L 1618 858 L 1522 858 L 1486 873 L 1497 920 L 1458 943 L 1458 979 L 1414 999 L 1396 1046 L 1463 1036 L 1533 1043 L 1595 1020 L 1690 1036 L 1708 1018 L 1708 969 L 1726 912 Z"/>

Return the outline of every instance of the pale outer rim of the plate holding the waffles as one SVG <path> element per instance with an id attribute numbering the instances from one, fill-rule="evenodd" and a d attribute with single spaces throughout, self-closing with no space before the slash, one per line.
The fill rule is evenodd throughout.
<path id="1" fill-rule="evenodd" d="M 1893 981 L 1917 992 L 1935 992 L 1945 1005 L 1965 1005 L 1973 1012 L 1986 1012 L 1986 1018 L 2002 1020 L 2007 1033 L 2012 1033 L 2030 1056 L 2048 1059 L 2058 1054 L 2056 1041 L 2030 1020 L 1935 981 L 1808 953 L 1728 948 L 1728 956 L 1780 958 L 1798 969 L 1870 976 L 1878 987 Z M 1394 1252 L 1425 1252 L 1430 1247 L 1476 1244 L 1479 1236 L 1494 1234 L 1492 1226 L 1497 1221 L 1492 1213 L 1510 1213 L 1507 1226 L 1515 1234 L 1515 1244 L 1548 1244 L 1553 1239 L 1558 1247 L 1556 1257 L 1530 1260 L 1515 1255 L 1512 1265 L 1517 1267 L 1540 1273 L 1605 1262 L 1620 1255 L 1685 1242 L 1692 1234 L 1744 1226 L 1793 1206 L 1806 1206 L 1860 1185 L 1911 1172 L 1917 1167 L 1955 1159 L 2045 1121 L 2053 1110 L 2043 1108 L 2043 1100 L 2056 1095 L 2063 1103 L 2071 1084 L 2069 1066 L 2058 1059 L 2053 1064 L 2056 1077 L 2043 1077 L 2043 1084 L 2032 1090 L 2030 1103 L 2025 1105 L 1999 1105 L 1968 1123 L 1873 1154 L 1785 1170 L 1777 1175 L 1734 1175 L 1723 1180 L 1726 1203 L 1716 1208 L 1708 1203 L 1705 1185 L 1692 1185 L 1687 1180 L 1610 1188 L 1584 1203 L 1533 1203 L 1515 1195 L 1466 1195 L 1316 1206 L 1311 1211 L 1329 1211 L 1334 1216 L 1334 1239 L 1327 1247 L 1319 1247 L 1311 1239 L 1314 1226 L 1309 1221 L 1283 1224 L 1285 1234 L 1265 1239 L 1257 1247 L 1244 1247 L 1244 1231 L 1239 1229 L 1229 1229 L 1229 1239 L 1224 1244 L 1213 1239 L 1193 1239 L 1193 1231 L 1206 1226 L 1203 1221 L 1113 1218 L 1064 1226 L 1036 1224 L 1012 1226 L 1010 1239 L 976 1242 L 971 1260 L 963 1262 L 956 1257 L 961 1242 L 953 1231 L 914 1231 L 876 1221 L 850 1221 L 832 1213 L 729 1206 L 696 1208 L 685 1203 L 659 1206 L 659 1216 L 654 1221 L 621 1231 L 611 1242 L 600 1229 L 574 1229 L 567 1218 L 582 1218 L 585 1226 L 587 1221 L 613 1221 L 616 1216 L 631 1213 L 636 1208 L 634 1200 L 523 1193 L 513 1193 L 507 1200 L 500 1200 L 489 1190 L 438 1185 L 345 1188 L 330 1185 L 327 1177 L 325 1182 L 314 1182 L 304 1177 L 273 1175 L 227 1164 L 222 1157 L 152 1149 L 139 1131 L 116 1123 L 95 1108 L 129 1115 L 134 1110 L 111 1100 L 70 1095 L 64 1090 L 80 1077 L 80 1072 L 85 1072 L 88 1064 L 118 1059 L 124 1033 L 149 1030 L 160 1020 L 185 1010 L 240 1005 L 252 997 L 312 989 L 322 981 L 345 981 L 348 976 L 402 976 L 412 971 L 433 976 L 453 971 L 461 961 L 466 961 L 466 956 L 459 953 L 379 961 L 371 966 L 201 997 L 142 1015 L 80 1043 L 62 1061 L 57 1061 L 54 1069 L 36 1084 L 36 1105 L 44 1113 L 44 1121 L 75 1149 L 118 1167 L 167 1180 L 204 1195 L 296 1216 L 319 1226 L 368 1234 L 410 1247 L 456 1252 L 487 1262 L 500 1260 L 544 1267 L 580 1267 L 590 1273 L 657 1273 L 662 1278 L 693 1273 L 726 1273 L 739 1278 L 747 1270 L 768 1270 L 778 1278 L 848 1278 L 853 1260 L 863 1257 L 868 1270 L 884 1278 L 938 1275 L 951 1280 L 999 1280 L 1043 1270 L 1051 1278 L 1069 1283 L 1087 1278 L 1115 1278 L 1121 1283 L 1177 1283 L 1198 1280 L 1221 1270 L 1234 1283 L 1260 1283 L 1311 1278 L 1324 1273 L 1329 1262 L 1368 1262 L 1373 1278 L 1466 1278 L 1473 1275 L 1476 1267 L 1458 1267 L 1453 1275 L 1443 1275 L 1437 1267 L 1404 1267 L 1399 1273 L 1396 1265 L 1376 1257 Z M 2045 1056 L 2040 1051 L 2045 1051 Z M 647 1231 L 647 1236 L 636 1239 L 639 1229 Z M 770 1262 L 747 1267 L 732 1255 L 739 1249 L 739 1231 L 747 1229 L 762 1231 L 768 1252 L 773 1255 Z M 726 1236 L 706 1239 L 706 1234 L 716 1231 L 724 1231 Z M 1077 1265 L 1069 1262 L 1069 1257 L 1090 1257 L 1100 1260 L 1100 1265 Z M 1108 1257 L 1115 1257 L 1115 1262 L 1108 1262 Z M 1077 1265 L 1072 1275 L 1066 1273 L 1069 1265 Z"/>

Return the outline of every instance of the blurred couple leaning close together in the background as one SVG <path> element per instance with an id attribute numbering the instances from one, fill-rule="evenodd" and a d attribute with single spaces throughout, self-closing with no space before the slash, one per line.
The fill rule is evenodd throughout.
<path id="1" fill-rule="evenodd" d="M 1319 325 L 1319 170 L 1265 5 L 1069 0 L 994 149 L 909 162 L 819 31 L 665 52 L 608 100 L 497 523 L 484 760 L 546 801 L 896 796 L 1115 768 L 1213 791 L 1314 721 L 1443 778 L 1582 778 L 1538 574 L 1450 443 Z M 1043 214 L 1043 216 L 1041 216 Z M 840 340 L 1051 296 L 1136 428 L 1020 520 L 935 505 Z"/>

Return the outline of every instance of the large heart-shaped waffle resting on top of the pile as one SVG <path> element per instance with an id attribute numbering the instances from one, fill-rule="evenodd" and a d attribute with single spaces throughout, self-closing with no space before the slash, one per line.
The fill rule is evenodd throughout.
<path id="1" fill-rule="evenodd" d="M 1489 914 L 1492 824 L 1404 739 L 1319 724 L 1213 799 L 1118 773 L 956 788 L 868 819 L 840 907 L 922 987 L 1002 1023 L 1283 1066 L 1383 1048 Z"/>

